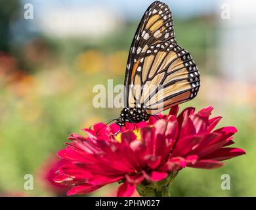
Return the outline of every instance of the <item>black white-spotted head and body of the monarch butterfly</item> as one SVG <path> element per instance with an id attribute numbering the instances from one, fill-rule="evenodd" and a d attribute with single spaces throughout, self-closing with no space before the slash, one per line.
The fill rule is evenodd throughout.
<path id="1" fill-rule="evenodd" d="M 145 108 L 123 108 L 116 124 L 122 127 L 126 122 L 139 123 L 140 121 L 147 121 L 149 117 Z"/>

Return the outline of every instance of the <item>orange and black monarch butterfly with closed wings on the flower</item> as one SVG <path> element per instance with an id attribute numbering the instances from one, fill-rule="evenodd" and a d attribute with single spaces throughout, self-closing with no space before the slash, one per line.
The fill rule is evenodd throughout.
<path id="1" fill-rule="evenodd" d="M 129 52 L 124 85 L 126 106 L 116 119 L 120 127 L 126 122 L 147 121 L 198 93 L 198 68 L 190 53 L 175 40 L 171 11 L 160 1 L 152 3 L 140 20 Z M 139 91 L 135 90 L 136 85 Z M 156 88 L 151 90 L 150 86 Z"/>

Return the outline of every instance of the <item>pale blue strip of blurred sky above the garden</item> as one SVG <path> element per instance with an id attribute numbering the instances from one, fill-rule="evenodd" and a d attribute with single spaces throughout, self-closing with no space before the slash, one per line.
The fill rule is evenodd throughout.
<path id="1" fill-rule="evenodd" d="M 47 15 L 47 10 L 53 7 L 104 7 L 121 14 L 125 18 L 137 19 L 153 2 L 152 0 L 23 0 L 24 3 L 32 3 L 35 11 Z M 163 1 L 175 15 L 180 18 L 189 18 L 211 13 L 215 10 L 215 0 L 165 0 Z"/>

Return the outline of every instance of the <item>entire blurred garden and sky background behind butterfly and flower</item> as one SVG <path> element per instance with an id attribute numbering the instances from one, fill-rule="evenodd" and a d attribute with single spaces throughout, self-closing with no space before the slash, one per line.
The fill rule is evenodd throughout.
<path id="1" fill-rule="evenodd" d="M 199 95 L 181 107 L 213 105 L 213 116 L 224 117 L 220 126 L 236 126 L 236 146 L 247 151 L 220 169 L 182 170 L 173 196 L 256 196 L 256 3 L 164 2 L 178 43 L 202 75 Z M 24 18 L 26 3 L 32 20 Z M 150 3 L 0 0 L 1 196 L 64 196 L 66 189 L 51 182 L 61 164 L 56 152 L 70 133 L 119 115 L 117 108 L 94 108 L 92 90 L 108 79 L 123 83 L 133 35 Z M 33 190 L 24 190 L 26 174 L 33 175 Z M 230 175 L 230 190 L 221 190 L 223 174 Z M 115 189 L 89 196 L 114 196 Z"/>

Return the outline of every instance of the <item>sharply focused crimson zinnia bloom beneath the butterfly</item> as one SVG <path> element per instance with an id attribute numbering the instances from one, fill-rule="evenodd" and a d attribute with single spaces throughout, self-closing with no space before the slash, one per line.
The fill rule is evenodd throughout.
<path id="1" fill-rule="evenodd" d="M 87 137 L 70 135 L 72 142 L 58 156 L 71 163 L 60 167 L 54 180 L 72 186 L 68 195 L 93 192 L 112 182 L 123 182 L 117 196 L 131 196 L 136 185 L 143 195 L 141 184 L 169 182 L 184 167 L 213 169 L 224 165 L 225 159 L 245 154 L 226 147 L 234 143 L 235 127 L 213 131 L 221 119 L 209 119 L 213 107 L 198 113 L 186 108 L 177 116 L 178 110 L 175 106 L 169 116 L 160 115 L 158 120 L 152 116 L 148 123 L 127 123 L 116 136 L 116 124 L 102 123 L 94 130 L 83 129 Z"/>

